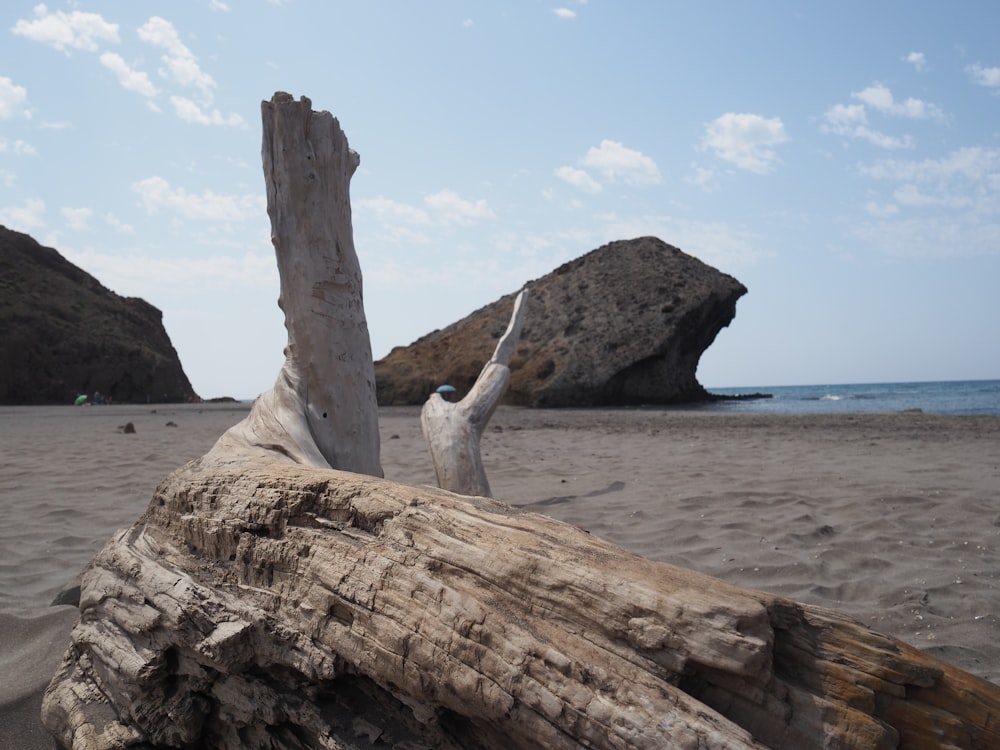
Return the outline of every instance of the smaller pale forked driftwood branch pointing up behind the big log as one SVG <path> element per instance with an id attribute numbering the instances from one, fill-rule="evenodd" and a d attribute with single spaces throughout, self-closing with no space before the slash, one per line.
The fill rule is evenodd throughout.
<path id="1" fill-rule="evenodd" d="M 492 497 L 479 441 L 510 383 L 510 360 L 524 325 L 527 290 L 514 300 L 510 323 L 475 384 L 458 403 L 432 393 L 420 411 L 438 487 L 460 495 Z"/>

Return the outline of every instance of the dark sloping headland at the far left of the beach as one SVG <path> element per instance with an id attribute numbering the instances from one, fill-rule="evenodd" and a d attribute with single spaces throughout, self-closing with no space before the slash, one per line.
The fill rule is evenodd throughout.
<path id="1" fill-rule="evenodd" d="M 0 226 L 0 404 L 194 398 L 162 313 Z"/>

